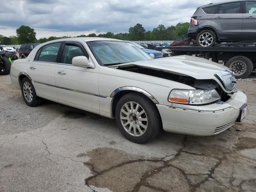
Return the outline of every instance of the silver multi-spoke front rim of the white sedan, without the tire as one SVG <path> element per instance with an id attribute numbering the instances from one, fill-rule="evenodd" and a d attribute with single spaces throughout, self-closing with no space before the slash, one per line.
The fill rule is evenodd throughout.
<path id="1" fill-rule="evenodd" d="M 136 102 L 127 102 L 120 111 L 122 126 L 132 136 L 142 136 L 148 127 L 145 110 Z"/>

